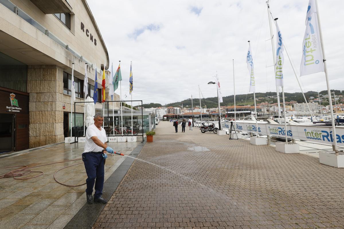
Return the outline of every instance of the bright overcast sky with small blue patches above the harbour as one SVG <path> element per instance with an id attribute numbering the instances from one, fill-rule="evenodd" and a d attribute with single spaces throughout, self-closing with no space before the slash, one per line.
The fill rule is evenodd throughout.
<path id="1" fill-rule="evenodd" d="M 218 74 L 222 95 L 247 94 L 247 41 L 251 41 L 256 92 L 276 91 L 265 0 L 88 0 L 114 69 L 121 60 L 122 97 L 161 104 L 216 96 L 208 85 Z M 343 0 L 318 1 L 331 89 L 344 90 Z M 308 0 L 271 0 L 270 9 L 299 75 Z M 276 26 L 273 25 L 273 34 Z M 274 35 L 274 38 L 276 35 Z M 266 41 L 268 40 L 268 41 Z M 276 46 L 276 40 L 274 39 Z M 300 92 L 284 52 L 284 91 Z M 110 64 L 111 65 L 111 64 Z M 323 72 L 301 77 L 304 91 L 326 90 Z M 119 89 L 116 91 L 119 94 Z M 125 98 L 124 95 L 127 95 Z"/>

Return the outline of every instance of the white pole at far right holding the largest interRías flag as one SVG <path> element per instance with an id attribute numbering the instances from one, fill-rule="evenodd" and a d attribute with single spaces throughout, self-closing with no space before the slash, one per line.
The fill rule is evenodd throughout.
<path id="1" fill-rule="evenodd" d="M 325 48 L 324 48 L 324 43 L 323 43 L 321 24 L 320 24 L 320 17 L 319 17 L 319 9 L 318 9 L 318 1 L 317 0 L 315 0 L 315 7 L 316 7 L 316 14 L 317 14 L 318 25 L 319 25 L 320 44 L 321 44 L 321 49 L 322 49 L 322 53 L 323 53 L 323 62 L 324 62 L 324 69 L 325 69 L 327 94 L 329 95 L 329 104 L 330 104 L 331 121 L 332 121 L 332 133 L 333 133 L 332 135 L 333 135 L 334 151 L 336 152 L 336 155 L 338 155 L 337 135 L 336 135 L 336 127 L 335 127 L 335 124 L 334 124 L 334 117 L 333 117 L 333 107 L 332 107 L 330 82 L 329 82 L 329 77 L 327 76 L 327 65 L 326 65 L 326 57 L 325 57 Z"/>

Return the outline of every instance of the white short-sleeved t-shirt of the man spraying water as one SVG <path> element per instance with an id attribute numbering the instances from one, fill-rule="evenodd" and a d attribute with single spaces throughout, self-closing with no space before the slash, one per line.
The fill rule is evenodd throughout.
<path id="1" fill-rule="evenodd" d="M 97 136 L 97 138 L 105 143 L 107 141 L 106 132 L 103 127 L 100 127 L 101 130 L 99 130 L 94 124 L 87 127 L 86 130 L 86 142 L 85 142 L 85 152 L 101 152 L 103 150 L 103 147 L 97 146 L 91 137 Z"/>

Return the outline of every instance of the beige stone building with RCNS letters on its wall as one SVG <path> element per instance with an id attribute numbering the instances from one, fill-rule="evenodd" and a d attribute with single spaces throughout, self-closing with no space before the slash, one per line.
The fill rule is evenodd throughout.
<path id="1" fill-rule="evenodd" d="M 98 98 L 103 69 L 109 69 L 108 51 L 92 12 L 86 0 L 0 0 L 0 12 L 0 94 L 5 98 L 0 102 L 0 146 L 12 140 L 11 147 L 0 147 L 0 152 L 63 142 L 72 118 L 72 64 L 75 102 L 84 101 L 85 69 L 91 97 L 97 69 Z M 108 86 L 110 73 L 105 72 Z M 110 100 L 108 89 L 106 96 Z M 113 105 L 118 109 L 119 103 Z M 102 107 L 96 103 L 96 109 Z M 75 112 L 82 121 L 84 104 Z M 21 143 L 25 139 L 28 144 Z"/>

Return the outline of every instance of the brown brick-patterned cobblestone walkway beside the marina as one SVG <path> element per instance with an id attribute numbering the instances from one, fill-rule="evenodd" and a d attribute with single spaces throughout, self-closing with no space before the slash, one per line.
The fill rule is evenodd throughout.
<path id="1" fill-rule="evenodd" d="M 159 123 L 93 228 L 344 228 L 343 169 L 194 133 Z"/>

